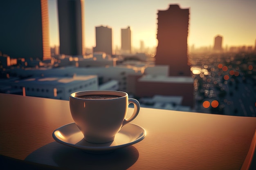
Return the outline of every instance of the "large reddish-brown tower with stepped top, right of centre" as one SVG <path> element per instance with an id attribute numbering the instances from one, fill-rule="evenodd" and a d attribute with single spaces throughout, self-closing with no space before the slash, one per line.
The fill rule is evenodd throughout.
<path id="1" fill-rule="evenodd" d="M 158 11 L 157 52 L 155 64 L 169 65 L 170 76 L 191 76 L 187 57 L 189 9 L 170 5 Z"/>

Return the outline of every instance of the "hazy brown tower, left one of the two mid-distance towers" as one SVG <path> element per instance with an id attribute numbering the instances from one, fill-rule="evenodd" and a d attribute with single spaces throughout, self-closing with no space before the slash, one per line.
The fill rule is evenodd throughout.
<path id="1" fill-rule="evenodd" d="M 96 46 L 93 52 L 104 52 L 112 55 L 112 28 L 96 26 Z"/>

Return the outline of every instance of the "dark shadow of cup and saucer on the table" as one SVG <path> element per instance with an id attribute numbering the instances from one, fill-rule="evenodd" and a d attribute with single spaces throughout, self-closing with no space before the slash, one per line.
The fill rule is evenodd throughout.
<path id="1" fill-rule="evenodd" d="M 35 150 L 25 160 L 63 169 L 125 170 L 138 158 L 139 152 L 134 146 L 120 148 L 110 153 L 92 154 L 52 142 Z"/>

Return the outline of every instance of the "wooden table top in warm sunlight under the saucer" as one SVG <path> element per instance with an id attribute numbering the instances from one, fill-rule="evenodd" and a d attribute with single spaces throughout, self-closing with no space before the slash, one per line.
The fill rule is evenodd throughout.
<path id="1" fill-rule="evenodd" d="M 145 139 L 107 154 L 54 141 L 71 122 L 68 101 L 0 94 L 0 169 L 256 169 L 255 117 L 141 108 Z"/>

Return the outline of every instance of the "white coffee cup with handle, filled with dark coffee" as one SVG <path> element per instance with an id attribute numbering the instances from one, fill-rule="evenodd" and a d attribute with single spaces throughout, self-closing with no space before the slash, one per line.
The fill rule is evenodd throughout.
<path id="1" fill-rule="evenodd" d="M 81 98 L 85 95 L 87 97 Z M 88 95 L 92 96 L 88 98 Z M 105 98 L 99 99 L 100 95 Z M 118 97 L 106 98 L 106 95 Z M 134 104 L 134 110 L 126 119 L 129 104 Z M 74 122 L 84 139 L 95 144 L 113 141 L 122 126 L 135 119 L 139 108 L 139 102 L 129 99 L 128 94 L 122 91 L 80 91 L 70 95 L 70 112 Z"/>

